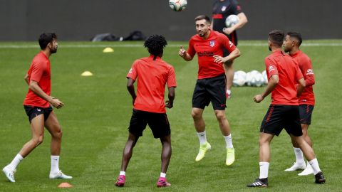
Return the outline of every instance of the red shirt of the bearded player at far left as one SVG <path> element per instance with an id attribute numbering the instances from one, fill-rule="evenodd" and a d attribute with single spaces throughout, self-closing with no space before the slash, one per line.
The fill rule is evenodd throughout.
<path id="1" fill-rule="evenodd" d="M 41 51 L 32 60 L 31 66 L 28 69 L 28 80 L 38 82 L 41 90 L 47 95 L 51 95 L 51 70 L 50 61 L 48 57 Z M 33 91 L 28 89 L 26 94 L 24 105 L 31 105 L 34 107 L 49 107 L 50 104 L 38 97 Z"/>

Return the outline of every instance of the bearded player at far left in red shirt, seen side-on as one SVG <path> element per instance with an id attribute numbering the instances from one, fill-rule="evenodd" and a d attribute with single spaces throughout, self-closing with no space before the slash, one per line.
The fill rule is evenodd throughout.
<path id="1" fill-rule="evenodd" d="M 51 134 L 51 171 L 50 178 L 73 178 L 62 173 L 59 169 L 59 154 L 61 153 L 62 130 L 53 107 L 60 109 L 63 102 L 51 97 L 50 56 L 57 52 L 57 36 L 55 33 L 42 33 L 38 39 L 41 52 L 32 60 L 25 81 L 28 93 L 24 100 L 24 109 L 31 124 L 32 139 L 24 144 L 11 164 L 2 169 L 11 182 L 16 182 L 14 173 L 18 164 L 43 142 L 44 127 Z"/>

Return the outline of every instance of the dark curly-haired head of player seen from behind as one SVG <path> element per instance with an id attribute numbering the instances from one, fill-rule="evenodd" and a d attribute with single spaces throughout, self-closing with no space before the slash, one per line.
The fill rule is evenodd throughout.
<path id="1" fill-rule="evenodd" d="M 148 53 L 154 55 L 155 57 L 162 57 L 163 50 L 167 45 L 167 41 L 164 36 L 154 35 L 147 38 L 144 43 L 145 48 L 147 48 Z"/>

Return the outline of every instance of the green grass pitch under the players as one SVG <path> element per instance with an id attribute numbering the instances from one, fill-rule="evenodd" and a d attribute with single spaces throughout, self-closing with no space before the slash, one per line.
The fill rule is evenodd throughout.
<path id="1" fill-rule="evenodd" d="M 266 191 L 341 191 L 341 62 L 342 41 L 306 41 L 302 46 L 314 65 L 316 106 L 309 135 L 327 182 L 314 184 L 314 176 L 285 172 L 294 162 L 286 132 L 271 145 L 269 188 Z M 236 162 L 225 166 L 225 144 L 212 107 L 204 110 L 207 139 L 212 151 L 199 162 L 199 147 L 191 111 L 192 91 L 197 78 L 197 58 L 185 62 L 171 42 L 163 57 L 174 65 L 178 87 L 174 108 L 167 110 L 172 129 L 172 159 L 167 180 L 170 188 L 156 188 L 160 174 L 160 141 L 150 129 L 140 138 L 126 172 L 126 185 L 116 188 L 123 146 L 132 113 L 125 75 L 137 58 L 147 56 L 142 42 L 59 42 L 51 57 L 52 94 L 65 103 L 55 110 L 63 129 L 60 167 L 74 178 L 73 188 L 63 191 L 260 191 L 245 185 L 259 176 L 259 125 L 269 106 L 269 97 L 256 104 L 252 97 L 264 87 L 234 87 L 227 101 Z M 105 46 L 113 53 L 102 53 Z M 242 56 L 236 70 L 264 70 L 269 54 L 266 41 L 241 41 Z M 22 102 L 27 92 L 24 75 L 38 53 L 37 43 L 0 43 L 0 167 L 8 164 L 31 138 Z M 94 76 L 81 77 L 90 70 Z M 0 191 L 61 191 L 63 180 L 50 180 L 50 135 L 18 167 L 16 183 L 0 175 Z M 338 184 L 339 183 L 339 184 Z"/>

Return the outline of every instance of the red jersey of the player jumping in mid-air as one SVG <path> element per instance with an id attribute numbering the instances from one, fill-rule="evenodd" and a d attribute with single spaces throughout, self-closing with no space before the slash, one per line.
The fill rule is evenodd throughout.
<path id="1" fill-rule="evenodd" d="M 203 39 L 195 35 L 190 38 L 187 53 L 198 56 L 198 79 L 214 78 L 224 73 L 222 63 L 214 62 L 214 55 L 223 55 L 222 48 L 232 52 L 236 47 L 227 36 L 217 31 L 210 31 L 209 37 Z"/>

